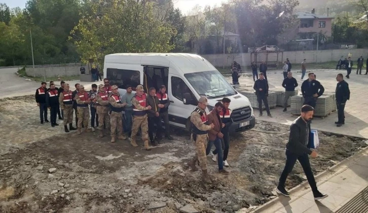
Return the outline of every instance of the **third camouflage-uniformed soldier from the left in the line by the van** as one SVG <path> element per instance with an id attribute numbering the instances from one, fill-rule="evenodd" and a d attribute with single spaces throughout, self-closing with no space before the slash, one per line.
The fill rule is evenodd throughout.
<path id="1" fill-rule="evenodd" d="M 106 125 L 106 129 L 110 127 L 110 115 L 108 114 L 108 94 L 105 92 L 103 84 L 98 86 L 98 93 L 96 95 L 96 110 L 98 115 L 98 126 L 100 130 L 100 137 L 103 137 L 103 123 Z"/>

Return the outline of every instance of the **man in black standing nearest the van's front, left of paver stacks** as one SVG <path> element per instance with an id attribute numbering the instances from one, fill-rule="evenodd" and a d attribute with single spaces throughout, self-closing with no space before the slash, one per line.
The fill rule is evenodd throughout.
<path id="1" fill-rule="evenodd" d="M 255 95 L 257 96 L 258 101 L 258 108 L 260 109 L 260 116 L 263 115 L 262 113 L 262 101 L 265 104 L 267 115 L 272 117 L 270 108 L 268 107 L 268 82 L 264 79 L 263 73 L 260 73 L 260 79 L 257 79 L 254 82 L 253 89 L 255 90 Z"/>

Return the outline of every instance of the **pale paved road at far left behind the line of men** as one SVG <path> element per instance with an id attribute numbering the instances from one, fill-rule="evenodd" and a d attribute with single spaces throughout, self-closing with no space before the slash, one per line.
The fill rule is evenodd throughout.
<path id="1" fill-rule="evenodd" d="M 2 68 L 0 69 L 0 98 L 18 97 L 34 95 L 36 89 L 41 87 L 41 82 L 28 80 L 27 78 L 19 77 L 15 74 L 18 68 Z M 70 84 L 70 90 L 75 90 L 76 83 L 82 83 L 86 90 L 91 90 L 91 85 L 103 83 L 98 82 L 81 82 L 80 80 L 66 81 Z M 47 82 L 49 86 L 49 82 Z M 55 81 L 56 87 L 60 87 L 60 81 Z"/>

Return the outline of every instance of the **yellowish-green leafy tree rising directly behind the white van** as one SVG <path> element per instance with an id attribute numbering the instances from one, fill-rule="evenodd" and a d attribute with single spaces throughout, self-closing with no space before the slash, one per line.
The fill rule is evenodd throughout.
<path id="1" fill-rule="evenodd" d="M 112 0 L 96 15 L 102 2 L 91 3 L 91 12 L 82 15 L 71 30 L 72 41 L 82 61 L 93 59 L 103 64 L 112 53 L 169 52 L 175 32 L 155 19 L 152 2 Z"/>

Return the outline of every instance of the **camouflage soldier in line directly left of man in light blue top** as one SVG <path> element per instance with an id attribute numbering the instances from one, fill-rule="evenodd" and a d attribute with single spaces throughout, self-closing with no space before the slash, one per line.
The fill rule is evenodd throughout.
<path id="1" fill-rule="evenodd" d="M 126 103 L 122 103 L 119 88 L 114 85 L 111 87 L 113 92 L 108 95 L 108 105 L 110 106 L 110 125 L 111 125 L 111 143 L 115 143 L 116 129 L 118 129 L 118 138 L 126 140 L 127 137 L 123 135 L 123 108 Z"/>

